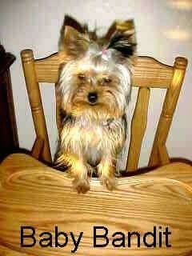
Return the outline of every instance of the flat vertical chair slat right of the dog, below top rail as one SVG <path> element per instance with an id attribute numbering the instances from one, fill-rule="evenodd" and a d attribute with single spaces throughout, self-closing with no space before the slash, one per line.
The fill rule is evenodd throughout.
<path id="1" fill-rule="evenodd" d="M 142 147 L 142 139 L 146 131 L 148 106 L 150 100 L 150 89 L 139 88 L 138 100 L 134 109 L 131 122 L 130 148 L 128 153 L 126 171 L 138 169 L 138 159 Z"/>

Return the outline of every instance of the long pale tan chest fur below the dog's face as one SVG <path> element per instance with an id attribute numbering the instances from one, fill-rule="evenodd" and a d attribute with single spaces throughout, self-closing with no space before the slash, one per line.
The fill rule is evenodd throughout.
<path id="1" fill-rule="evenodd" d="M 103 122 L 86 119 L 64 122 L 61 133 L 62 149 L 86 157 L 92 165 L 98 164 L 107 154 L 116 158 L 125 140 L 125 124 L 122 118 Z"/>

